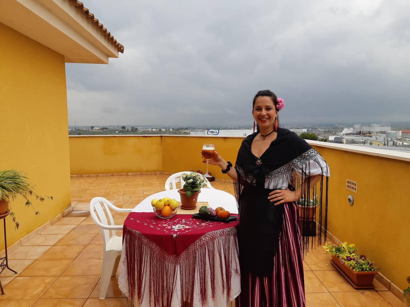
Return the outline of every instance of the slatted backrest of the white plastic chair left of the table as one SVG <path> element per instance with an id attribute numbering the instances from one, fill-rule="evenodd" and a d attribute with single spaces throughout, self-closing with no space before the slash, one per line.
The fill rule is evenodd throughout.
<path id="1" fill-rule="evenodd" d="M 101 203 L 103 205 L 101 205 Z M 111 236 L 110 236 L 109 235 L 110 230 L 101 228 L 101 226 L 108 226 L 108 225 L 114 226 L 114 219 L 112 218 L 112 214 L 109 211 L 109 208 L 113 210 L 119 209 L 116 206 L 114 206 L 112 203 L 110 203 L 107 199 L 105 199 L 104 197 L 94 197 L 90 201 L 91 218 L 93 219 L 94 223 L 96 223 L 96 225 L 100 227 L 101 234 L 103 235 L 104 250 L 105 250 L 106 242 L 108 242 L 110 238 L 115 236 L 115 230 L 111 230 Z M 108 217 L 108 220 L 107 220 L 107 217 Z"/>

